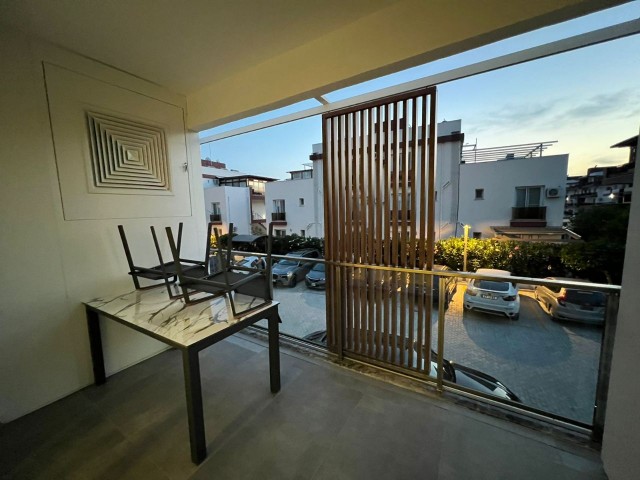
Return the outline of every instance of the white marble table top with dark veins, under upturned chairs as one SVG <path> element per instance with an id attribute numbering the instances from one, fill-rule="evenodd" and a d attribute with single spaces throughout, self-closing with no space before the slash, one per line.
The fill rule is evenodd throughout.
<path id="1" fill-rule="evenodd" d="M 238 312 L 264 302 L 262 298 L 241 294 L 234 294 L 233 298 Z M 182 298 L 170 299 L 163 285 L 113 297 L 94 298 L 84 304 L 116 317 L 122 323 L 129 323 L 179 346 L 188 347 L 247 318 L 255 319 L 256 315 L 278 302 L 271 302 L 234 318 L 226 295 L 186 305 Z"/>

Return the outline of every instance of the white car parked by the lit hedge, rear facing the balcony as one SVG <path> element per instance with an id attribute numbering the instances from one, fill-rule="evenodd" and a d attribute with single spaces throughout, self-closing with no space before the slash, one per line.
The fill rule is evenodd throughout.
<path id="1" fill-rule="evenodd" d="M 509 277 L 511 272 L 492 268 L 479 268 L 480 275 Z M 520 316 L 520 296 L 514 282 L 505 280 L 481 280 L 474 278 L 467 283 L 464 292 L 465 310 L 480 310 L 487 313 L 506 315 L 511 320 Z"/>

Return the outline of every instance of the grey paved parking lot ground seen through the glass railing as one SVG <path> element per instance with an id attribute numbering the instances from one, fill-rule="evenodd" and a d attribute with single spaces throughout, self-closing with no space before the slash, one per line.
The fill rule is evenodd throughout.
<path id="1" fill-rule="evenodd" d="M 445 358 L 492 375 L 523 403 L 591 423 L 602 327 L 557 323 L 539 307 L 533 293 L 520 291 L 520 319 L 463 311 L 460 283 L 446 313 Z M 325 292 L 276 287 L 281 331 L 296 337 L 324 330 Z M 437 312 L 432 321 L 437 340 Z"/>

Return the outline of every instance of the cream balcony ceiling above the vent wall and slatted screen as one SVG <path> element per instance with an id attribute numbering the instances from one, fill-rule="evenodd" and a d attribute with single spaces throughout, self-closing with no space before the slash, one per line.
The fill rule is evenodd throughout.
<path id="1" fill-rule="evenodd" d="M 0 23 L 184 94 L 198 130 L 619 3 L 2 0 Z"/>

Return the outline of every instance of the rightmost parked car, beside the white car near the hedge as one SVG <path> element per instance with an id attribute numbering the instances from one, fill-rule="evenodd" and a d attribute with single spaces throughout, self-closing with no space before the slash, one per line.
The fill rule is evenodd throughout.
<path id="1" fill-rule="evenodd" d="M 591 283 L 589 280 L 562 277 L 547 277 L 545 280 Z M 538 285 L 535 297 L 552 320 L 569 320 L 596 325 L 604 323 L 607 297 L 602 292 L 560 285 Z"/>

